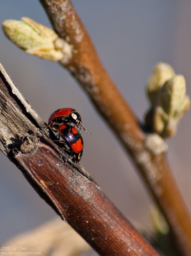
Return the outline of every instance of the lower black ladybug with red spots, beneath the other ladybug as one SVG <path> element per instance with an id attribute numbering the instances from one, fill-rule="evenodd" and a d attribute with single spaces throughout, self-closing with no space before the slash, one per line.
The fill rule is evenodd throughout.
<path id="1" fill-rule="evenodd" d="M 81 159 L 84 147 L 81 133 L 70 124 L 59 124 L 57 125 L 56 131 L 61 135 L 64 142 L 70 148 L 68 151 L 71 153 L 73 162 L 78 163 Z"/>

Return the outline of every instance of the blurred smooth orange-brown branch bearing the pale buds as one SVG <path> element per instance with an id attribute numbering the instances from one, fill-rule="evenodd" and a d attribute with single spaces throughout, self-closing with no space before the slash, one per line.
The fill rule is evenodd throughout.
<path id="1" fill-rule="evenodd" d="M 145 147 L 145 134 L 101 64 L 84 25 L 69 0 L 40 0 L 60 37 L 73 47 L 61 62 L 82 85 L 98 112 L 130 153 L 151 194 L 162 210 L 182 253 L 191 255 L 191 220 L 164 153 Z"/>

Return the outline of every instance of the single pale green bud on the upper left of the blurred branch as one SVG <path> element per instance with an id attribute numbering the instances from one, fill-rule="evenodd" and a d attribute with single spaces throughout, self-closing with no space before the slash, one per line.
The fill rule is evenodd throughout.
<path id="1" fill-rule="evenodd" d="M 6 36 L 25 52 L 50 61 L 70 58 L 71 47 L 51 29 L 27 17 L 6 20 L 2 24 Z"/>

